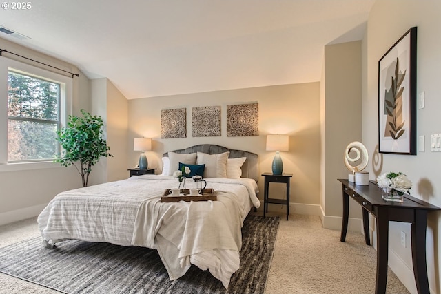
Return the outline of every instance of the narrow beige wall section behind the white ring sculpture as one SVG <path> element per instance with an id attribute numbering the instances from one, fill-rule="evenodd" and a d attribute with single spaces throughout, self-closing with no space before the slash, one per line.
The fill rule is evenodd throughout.
<path id="1" fill-rule="evenodd" d="M 323 226 L 340 229 L 341 184 L 349 171 L 343 163 L 347 145 L 361 140 L 361 42 L 325 46 L 322 81 L 322 209 Z M 351 202 L 351 229 L 360 229 L 361 209 Z"/>

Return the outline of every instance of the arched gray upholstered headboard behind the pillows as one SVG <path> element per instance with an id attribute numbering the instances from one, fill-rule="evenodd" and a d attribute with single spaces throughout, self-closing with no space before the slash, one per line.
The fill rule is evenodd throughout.
<path id="1" fill-rule="evenodd" d="M 246 157 L 247 160 L 243 162 L 242 165 L 242 177 L 243 178 L 252 178 L 258 181 L 259 178 L 259 170 L 258 170 L 258 155 L 252 152 L 243 151 L 243 150 L 235 150 L 228 149 L 227 147 L 212 145 L 212 144 L 201 144 L 194 145 L 192 147 L 188 147 L 186 149 L 180 150 L 171 150 L 176 153 L 194 153 L 194 152 L 203 152 L 206 154 L 220 154 L 223 152 L 229 151 L 229 158 L 238 158 L 238 157 Z M 168 156 L 168 152 L 165 152 L 163 156 Z"/>

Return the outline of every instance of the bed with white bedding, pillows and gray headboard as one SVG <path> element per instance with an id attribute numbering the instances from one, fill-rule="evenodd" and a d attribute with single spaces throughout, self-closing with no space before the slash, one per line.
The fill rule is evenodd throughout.
<path id="1" fill-rule="evenodd" d="M 241 227 L 257 198 L 258 156 L 218 145 L 195 145 L 163 154 L 161 175 L 134 176 L 59 193 L 38 217 L 43 244 L 68 239 L 109 242 L 156 249 L 170 280 L 191 264 L 228 288 L 239 269 Z M 216 201 L 161 202 L 166 189 L 178 187 L 172 176 L 178 162 L 204 167 L 207 188 Z M 185 188 L 196 187 L 191 178 Z"/>

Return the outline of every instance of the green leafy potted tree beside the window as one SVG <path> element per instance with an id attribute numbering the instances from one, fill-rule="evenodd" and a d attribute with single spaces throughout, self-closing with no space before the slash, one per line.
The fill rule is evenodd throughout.
<path id="1" fill-rule="evenodd" d="M 110 147 L 103 139 L 101 116 L 92 116 L 83 109 L 81 113 L 84 117 L 70 115 L 67 127 L 57 131 L 57 140 L 63 147 L 63 151 L 54 159 L 54 162 L 61 163 L 63 167 L 73 165 L 81 175 L 83 187 L 87 187 L 92 166 L 101 157 L 112 156 L 112 154 L 108 152 Z"/>

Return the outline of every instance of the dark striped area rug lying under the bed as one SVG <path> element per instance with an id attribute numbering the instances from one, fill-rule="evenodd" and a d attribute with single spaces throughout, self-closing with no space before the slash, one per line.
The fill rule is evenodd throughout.
<path id="1" fill-rule="evenodd" d="M 69 240 L 46 249 L 33 238 L 0 249 L 0 272 L 61 293 L 263 293 L 279 218 L 247 216 L 240 269 L 226 290 L 209 271 L 192 266 L 170 281 L 157 251 Z"/>

